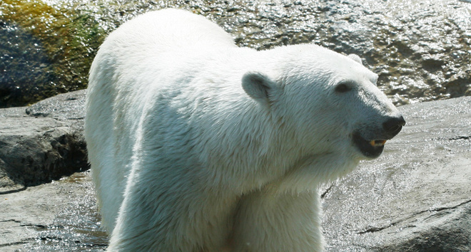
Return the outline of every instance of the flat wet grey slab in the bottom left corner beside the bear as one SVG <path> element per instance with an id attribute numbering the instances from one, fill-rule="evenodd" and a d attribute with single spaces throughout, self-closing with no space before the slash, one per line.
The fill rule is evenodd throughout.
<path id="1" fill-rule="evenodd" d="M 88 172 L 0 196 L 0 251 L 106 247 Z"/>

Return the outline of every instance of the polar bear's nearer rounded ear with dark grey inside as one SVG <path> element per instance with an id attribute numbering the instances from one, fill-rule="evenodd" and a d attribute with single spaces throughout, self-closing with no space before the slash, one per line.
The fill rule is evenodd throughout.
<path id="1" fill-rule="evenodd" d="M 251 98 L 268 104 L 269 93 L 275 88 L 275 83 L 262 73 L 248 72 L 242 77 L 242 88 Z"/>

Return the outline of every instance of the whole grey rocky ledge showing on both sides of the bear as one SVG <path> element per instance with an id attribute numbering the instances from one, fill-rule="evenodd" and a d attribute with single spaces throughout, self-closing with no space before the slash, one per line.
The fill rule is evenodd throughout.
<path id="1" fill-rule="evenodd" d="M 0 110 L 1 251 L 106 247 L 81 172 L 84 95 Z M 326 251 L 471 250 L 471 97 L 400 110 L 385 153 L 323 187 Z"/>

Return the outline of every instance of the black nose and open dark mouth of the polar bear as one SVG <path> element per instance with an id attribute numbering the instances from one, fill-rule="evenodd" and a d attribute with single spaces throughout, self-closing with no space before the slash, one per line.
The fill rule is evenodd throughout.
<path id="1" fill-rule="evenodd" d="M 353 143 L 365 157 L 379 157 L 383 153 L 386 140 L 392 139 L 402 130 L 405 120 L 402 115 L 390 116 L 381 125 L 381 130 L 365 132 L 363 129 L 353 132 Z"/>

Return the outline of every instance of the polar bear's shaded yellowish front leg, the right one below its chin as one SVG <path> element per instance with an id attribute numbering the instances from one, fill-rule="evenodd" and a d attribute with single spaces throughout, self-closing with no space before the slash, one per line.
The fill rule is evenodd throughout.
<path id="1" fill-rule="evenodd" d="M 320 196 L 261 189 L 245 195 L 236 216 L 233 251 L 322 251 Z"/>

